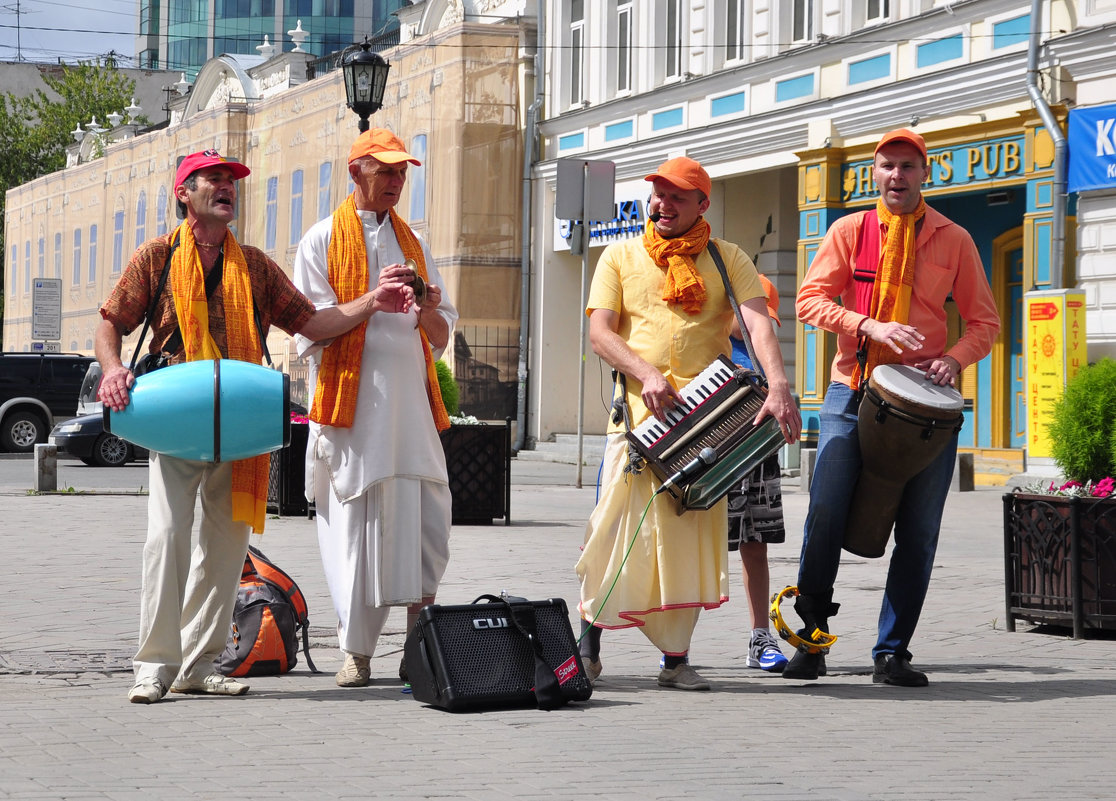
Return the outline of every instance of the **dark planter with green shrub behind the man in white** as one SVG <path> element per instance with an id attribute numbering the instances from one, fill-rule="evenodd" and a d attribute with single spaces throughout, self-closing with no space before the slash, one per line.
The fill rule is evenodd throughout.
<path id="1" fill-rule="evenodd" d="M 511 524 L 511 426 L 490 425 L 461 413 L 461 392 L 449 365 L 439 360 L 437 382 L 450 427 L 442 432 L 454 523 Z"/>

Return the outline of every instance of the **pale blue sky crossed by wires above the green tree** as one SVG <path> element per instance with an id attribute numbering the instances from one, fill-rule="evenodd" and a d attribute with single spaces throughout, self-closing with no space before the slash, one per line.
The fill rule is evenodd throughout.
<path id="1" fill-rule="evenodd" d="M 134 67 L 138 6 L 137 0 L 0 0 L 0 61 L 74 64 L 115 50 L 121 67 Z"/>

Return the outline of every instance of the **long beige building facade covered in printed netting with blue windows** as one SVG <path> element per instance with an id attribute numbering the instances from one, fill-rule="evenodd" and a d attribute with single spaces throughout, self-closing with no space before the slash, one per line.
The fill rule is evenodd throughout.
<path id="1" fill-rule="evenodd" d="M 444 358 L 462 379 L 462 408 L 503 418 L 514 415 L 519 357 L 519 106 L 530 80 L 521 50 L 535 31 L 516 13 L 472 22 L 435 11 L 416 13 L 407 40 L 382 54 L 392 68 L 371 122 L 423 162 L 408 171 L 397 211 L 426 239 L 461 312 Z M 252 170 L 240 184 L 237 235 L 289 273 L 302 233 L 352 191 L 346 157 L 358 134 L 340 70 L 306 79 L 310 64 L 290 51 L 211 59 L 165 128 L 86 137 L 71 166 L 10 190 L 6 349 L 31 349 L 32 279 L 49 277 L 62 282 L 60 348 L 93 353 L 99 306 L 135 247 L 177 225 L 174 171 L 200 149 Z M 137 334 L 125 340 L 127 356 Z M 268 344 L 304 390 L 289 338 L 272 329 Z"/>

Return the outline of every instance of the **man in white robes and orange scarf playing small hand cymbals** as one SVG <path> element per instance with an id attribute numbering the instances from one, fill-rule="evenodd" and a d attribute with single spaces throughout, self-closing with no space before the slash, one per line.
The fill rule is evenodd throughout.
<path id="1" fill-rule="evenodd" d="M 353 194 L 306 232 L 295 257 L 295 283 L 317 308 L 422 279 L 402 312 L 374 313 L 329 342 L 298 340 L 299 354 L 311 356 L 306 488 L 337 610 L 343 687 L 368 684 L 391 607 L 407 606 L 412 627 L 433 602 L 450 556 L 439 440 L 450 421 L 434 359 L 458 311 L 426 244 L 394 211 L 408 164 L 420 162 L 391 132 L 358 136 L 348 157 Z"/>

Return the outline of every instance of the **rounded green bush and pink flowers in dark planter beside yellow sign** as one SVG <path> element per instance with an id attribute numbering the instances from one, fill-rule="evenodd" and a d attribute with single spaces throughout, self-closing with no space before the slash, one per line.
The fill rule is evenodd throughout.
<path id="1" fill-rule="evenodd" d="M 1065 481 L 1003 496 L 1007 627 L 1016 618 L 1116 628 L 1116 361 L 1066 385 L 1051 412 L 1051 454 Z"/>

